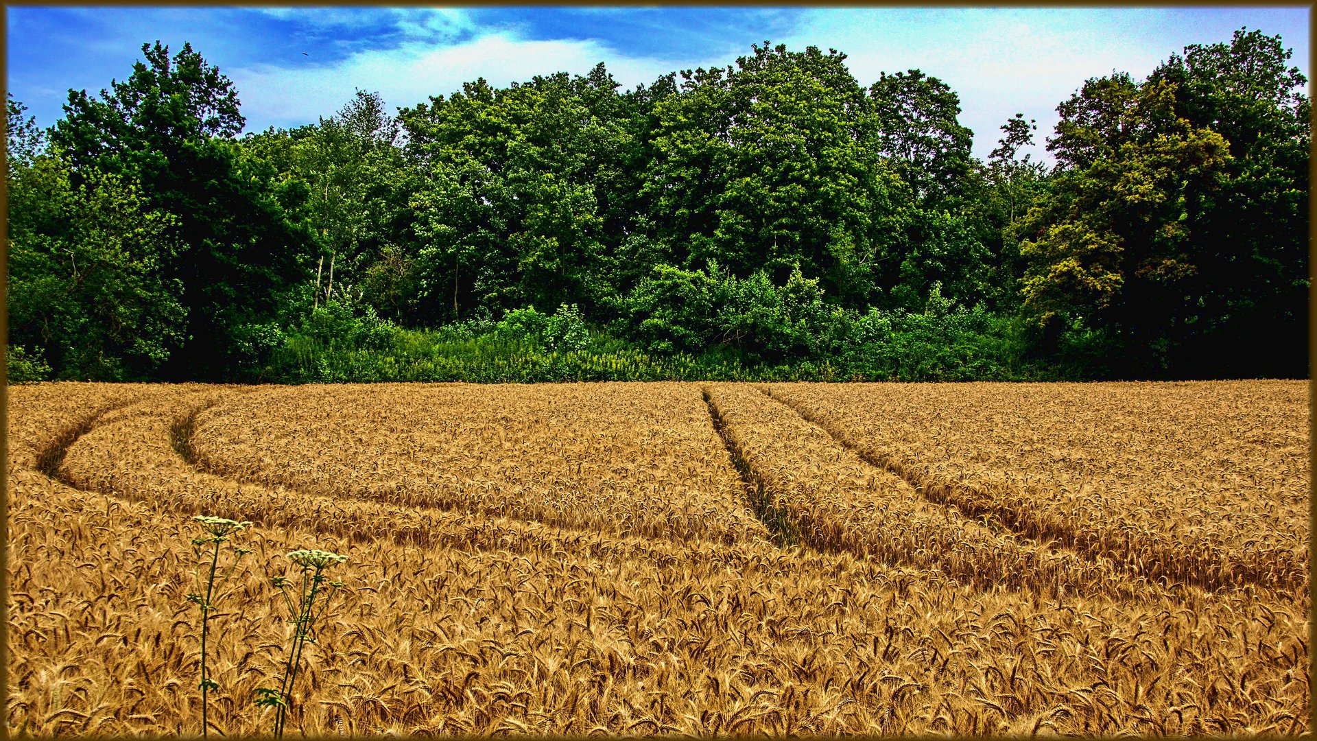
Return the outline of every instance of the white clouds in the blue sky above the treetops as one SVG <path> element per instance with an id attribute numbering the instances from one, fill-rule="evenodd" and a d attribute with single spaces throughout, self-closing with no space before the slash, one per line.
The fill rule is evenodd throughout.
<path id="1" fill-rule="evenodd" d="M 346 103 L 354 88 L 379 91 L 390 105 L 415 105 L 431 95 L 450 95 L 483 76 L 507 86 L 535 75 L 586 74 L 603 61 L 624 87 L 661 74 L 723 66 L 747 54 L 741 33 L 712 34 L 695 58 L 631 55 L 599 40 L 529 40 L 525 25 L 481 26 L 464 9 L 286 9 L 262 12 L 332 28 L 373 13 L 394 30 L 391 49 L 352 44 L 346 58 L 319 67 L 249 65 L 227 67 L 241 94 L 249 128 L 315 123 Z M 597 17 L 630 16 L 640 8 L 594 8 Z M 1238 22 L 1235 16 L 1193 16 L 1171 8 L 819 8 L 802 12 L 790 33 L 774 42 L 793 50 L 807 45 L 838 49 L 863 86 L 880 73 L 921 69 L 940 78 L 961 102 L 963 124 L 973 129 L 979 157 L 996 146 L 1000 127 L 1017 112 L 1038 120 L 1035 157 L 1048 158 L 1055 108 L 1085 79 L 1115 71 L 1147 75 L 1185 44 L 1216 41 L 1196 21 Z M 676 33 L 661 17 L 653 33 Z M 759 24 L 751 24 L 759 25 Z M 1254 24 L 1256 25 L 1256 24 Z M 1217 29 L 1220 32 L 1220 29 Z M 402 38 L 398 38 L 399 34 Z M 1209 33 L 1208 38 L 1202 38 Z M 738 37 L 738 38 L 734 38 Z M 1226 34 L 1223 38 L 1229 38 Z M 759 41 L 756 38 L 756 41 Z M 652 46 L 651 46 L 652 47 Z M 311 59 L 313 63 L 315 59 Z"/>

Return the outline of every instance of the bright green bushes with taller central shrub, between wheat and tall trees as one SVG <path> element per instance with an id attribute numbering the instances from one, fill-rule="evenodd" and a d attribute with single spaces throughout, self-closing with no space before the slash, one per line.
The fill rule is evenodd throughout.
<path id="1" fill-rule="evenodd" d="M 693 302 L 661 305 L 660 295 Z M 798 274 L 774 286 L 766 274 L 716 278 L 666 266 L 632 298 L 641 301 L 631 322 L 615 328 L 633 330 L 639 341 L 591 332 L 574 305 L 560 306 L 552 315 L 516 309 L 497 323 L 477 318 L 437 330 L 402 330 L 370 311 L 358 315 L 331 305 L 284 336 L 270 353 L 265 376 L 284 382 L 1056 377 L 1043 359 L 1031 355 L 1036 331 L 1022 319 L 993 315 L 982 306 L 957 306 L 936 283 L 923 311 L 860 314 L 828 309 L 817 285 Z M 644 312 L 648 316 L 633 322 Z M 719 334 L 735 332 L 739 341 L 716 341 Z M 699 334 L 712 334 L 714 341 L 684 339 Z"/>

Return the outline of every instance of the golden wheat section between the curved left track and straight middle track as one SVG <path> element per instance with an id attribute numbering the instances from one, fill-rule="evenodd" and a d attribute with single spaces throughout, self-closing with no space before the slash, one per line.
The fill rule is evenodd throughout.
<path id="1" fill-rule="evenodd" d="M 192 446 L 205 468 L 299 492 L 648 538 L 765 537 L 680 384 L 274 389 L 200 414 Z"/>

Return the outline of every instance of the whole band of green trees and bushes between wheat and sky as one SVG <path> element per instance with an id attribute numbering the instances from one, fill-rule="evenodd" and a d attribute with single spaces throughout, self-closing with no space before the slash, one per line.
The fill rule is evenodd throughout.
<path id="1" fill-rule="evenodd" d="M 1309 99 L 1279 37 L 1113 73 L 986 161 L 919 70 L 755 46 L 240 136 L 184 45 L 8 102 L 9 377 L 1306 377 Z"/>

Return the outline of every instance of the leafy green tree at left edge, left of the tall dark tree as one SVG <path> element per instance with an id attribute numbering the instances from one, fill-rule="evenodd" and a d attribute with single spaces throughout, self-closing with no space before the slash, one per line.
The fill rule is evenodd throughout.
<path id="1" fill-rule="evenodd" d="M 140 189 L 40 157 L 9 191 L 9 338 L 37 349 L 58 378 L 153 377 L 183 341 L 182 286 L 161 264 L 176 254 L 173 215 Z"/>

